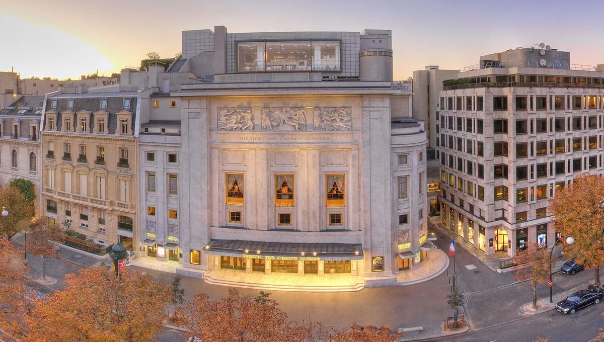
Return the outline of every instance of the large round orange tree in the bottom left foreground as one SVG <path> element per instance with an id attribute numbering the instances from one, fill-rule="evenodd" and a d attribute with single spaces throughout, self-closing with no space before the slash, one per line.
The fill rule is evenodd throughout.
<path id="1" fill-rule="evenodd" d="M 37 299 L 30 341 L 151 341 L 162 330 L 170 287 L 148 274 L 105 267 L 67 274 L 65 290 Z"/>

